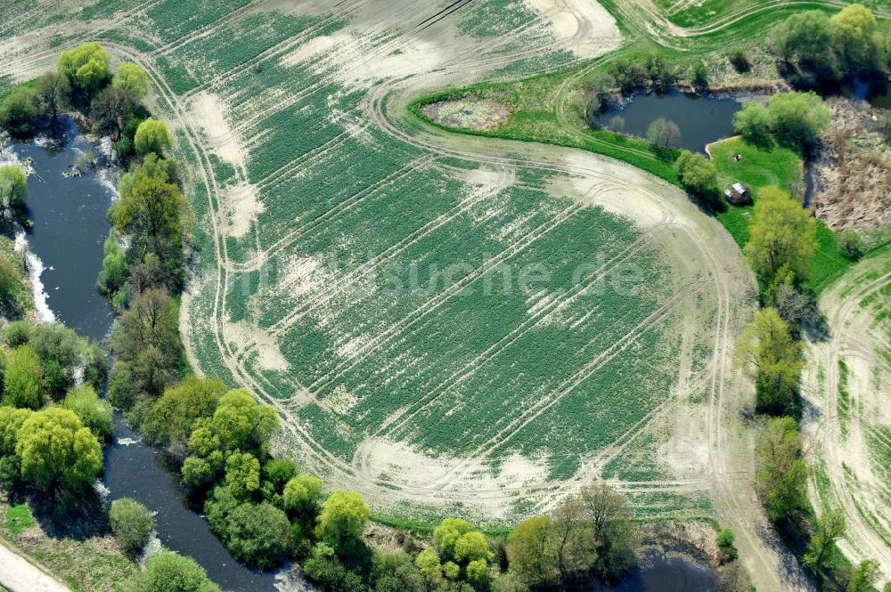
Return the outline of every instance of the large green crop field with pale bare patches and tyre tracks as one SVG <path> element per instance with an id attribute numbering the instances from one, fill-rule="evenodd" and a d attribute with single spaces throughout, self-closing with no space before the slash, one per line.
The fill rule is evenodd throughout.
<path id="1" fill-rule="evenodd" d="M 273 403 L 308 470 L 394 523 L 510 522 L 595 478 L 648 518 L 707 515 L 716 373 L 751 304 L 715 286 L 748 282 L 739 257 L 704 247 L 711 222 L 670 184 L 483 156 L 410 108 L 581 62 L 615 23 L 573 33 L 504 0 L 381 10 L 101 0 L 36 12 L 53 42 L 28 64 L 97 38 L 148 69 L 195 211 L 192 362 Z"/>

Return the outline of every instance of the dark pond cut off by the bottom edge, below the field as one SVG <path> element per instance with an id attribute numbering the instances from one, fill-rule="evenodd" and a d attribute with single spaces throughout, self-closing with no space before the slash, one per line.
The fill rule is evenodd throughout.
<path id="1" fill-rule="evenodd" d="M 715 592 L 718 579 L 704 565 L 658 551 L 642 554 L 640 564 L 609 592 Z"/>

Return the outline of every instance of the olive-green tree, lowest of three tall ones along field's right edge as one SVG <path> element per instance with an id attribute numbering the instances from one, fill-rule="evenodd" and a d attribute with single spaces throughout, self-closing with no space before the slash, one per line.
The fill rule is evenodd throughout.
<path id="1" fill-rule="evenodd" d="M 756 447 L 756 491 L 772 522 L 793 517 L 807 507 L 807 474 L 801 436 L 793 418 L 773 418 Z"/>

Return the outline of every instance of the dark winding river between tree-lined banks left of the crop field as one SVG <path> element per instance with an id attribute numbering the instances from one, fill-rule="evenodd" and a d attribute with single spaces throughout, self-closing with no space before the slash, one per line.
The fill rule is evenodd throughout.
<path id="1" fill-rule="evenodd" d="M 107 337 L 112 313 L 95 288 L 102 269 L 102 242 L 109 235 L 106 212 L 116 179 L 102 156 L 101 147 L 78 134 L 71 119 L 62 122 L 57 143 L 38 139 L 13 142 L 0 160 L 29 160 L 28 210 L 33 226 L 18 239 L 27 241 L 28 263 L 36 287 L 39 320 L 59 320 L 83 337 Z M 100 166 L 71 176 L 71 167 L 87 150 Z M 107 153 L 107 150 L 105 150 Z M 131 497 L 156 513 L 160 542 L 192 556 L 224 589 L 300 589 L 286 582 L 285 573 L 247 569 L 209 530 L 208 523 L 189 507 L 176 474 L 164 465 L 158 450 L 140 441 L 138 434 L 116 415 L 114 439 L 105 449 L 103 484 L 110 499 Z"/>

